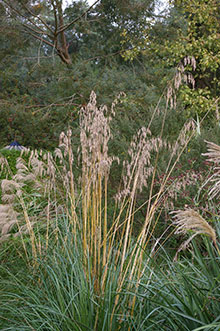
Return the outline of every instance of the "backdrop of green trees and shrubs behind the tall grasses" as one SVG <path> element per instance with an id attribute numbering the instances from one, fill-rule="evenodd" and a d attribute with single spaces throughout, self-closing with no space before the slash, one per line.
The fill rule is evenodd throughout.
<path id="1" fill-rule="evenodd" d="M 208 111 L 211 125 L 219 120 L 218 12 L 215 0 L 170 1 L 166 10 L 156 0 L 66 7 L 61 0 L 1 0 L 2 144 L 17 137 L 55 146 L 70 123 L 77 132 L 92 90 L 106 104 L 126 94 L 117 125 L 132 135 L 180 76 L 177 116 L 180 110 L 183 120 L 195 120 Z"/>

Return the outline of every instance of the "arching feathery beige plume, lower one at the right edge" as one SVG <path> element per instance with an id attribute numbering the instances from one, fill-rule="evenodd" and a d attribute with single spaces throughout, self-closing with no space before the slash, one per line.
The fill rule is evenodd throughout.
<path id="1" fill-rule="evenodd" d="M 181 250 L 186 249 L 188 244 L 192 241 L 192 239 L 198 234 L 204 234 L 210 237 L 215 245 L 217 251 L 219 252 L 219 248 L 216 241 L 216 233 L 215 230 L 211 227 L 211 225 L 197 213 L 193 209 L 186 210 L 177 210 L 172 212 L 173 214 L 173 224 L 176 226 L 175 234 L 186 234 L 188 232 L 192 232 L 193 234 L 187 239 L 178 249 L 174 260 L 177 260 L 178 253 Z"/>

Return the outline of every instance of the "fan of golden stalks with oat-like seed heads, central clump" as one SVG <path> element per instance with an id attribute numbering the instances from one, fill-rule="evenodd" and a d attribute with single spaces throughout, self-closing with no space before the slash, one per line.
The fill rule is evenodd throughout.
<path id="1" fill-rule="evenodd" d="M 162 139 L 163 128 L 159 137 L 153 137 L 150 128 L 143 127 L 138 131 L 130 143 L 128 160 L 123 163 L 122 181 L 115 196 L 116 209 L 112 219 L 108 215 L 109 174 L 113 162 L 119 162 L 119 159 L 109 156 L 108 143 L 112 138 L 110 124 L 118 101 L 116 100 L 110 110 L 105 106 L 98 108 L 96 95 L 92 92 L 90 102 L 81 109 L 79 160 L 82 174 L 78 181 L 74 179 L 72 170 L 74 153 L 70 130 L 67 134 L 61 134 L 60 146 L 56 150 L 63 178 L 70 187 L 67 190 L 67 201 L 70 202 L 71 210 L 68 216 L 73 226 L 74 242 L 78 251 L 82 251 L 85 277 L 88 281 L 92 281 L 94 294 L 99 298 L 100 308 L 97 307 L 96 310 L 95 328 L 98 325 L 101 305 L 109 288 L 109 282 L 114 284 L 112 291 L 115 293 L 109 313 L 110 325 L 113 325 L 115 316 L 122 313 L 120 308 L 121 300 L 124 300 L 122 294 L 131 290 L 136 291 L 146 270 L 144 252 L 148 246 L 150 248 L 167 179 L 193 134 L 193 128 L 186 127 L 183 130 L 184 134 L 181 133 L 181 139 L 178 139 L 178 145 L 172 146 Z M 164 121 L 165 116 L 166 112 Z M 172 162 L 169 162 L 164 181 L 155 194 L 153 187 L 157 162 L 161 149 L 165 148 L 169 152 L 174 149 L 174 152 L 171 152 Z M 147 187 L 149 192 L 142 206 L 143 209 L 145 208 L 145 217 L 139 234 L 134 238 L 136 201 L 144 187 Z M 128 308 L 126 314 L 132 316 L 135 295 L 128 295 L 126 300 Z"/>

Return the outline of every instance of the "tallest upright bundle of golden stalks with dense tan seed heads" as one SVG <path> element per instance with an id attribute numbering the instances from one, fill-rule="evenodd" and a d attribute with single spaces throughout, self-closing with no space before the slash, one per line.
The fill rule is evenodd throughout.
<path id="1" fill-rule="evenodd" d="M 88 254 L 90 258 L 93 257 L 92 270 L 97 293 L 101 289 L 99 278 L 107 259 L 107 182 L 111 164 L 116 160 L 108 156 L 114 105 L 110 116 L 106 116 L 107 112 L 105 106 L 96 106 L 96 95 L 92 92 L 90 102 L 81 109 L 80 115 L 83 210 L 81 233 L 85 262 L 88 261 Z M 104 282 L 103 280 L 103 284 Z"/>

